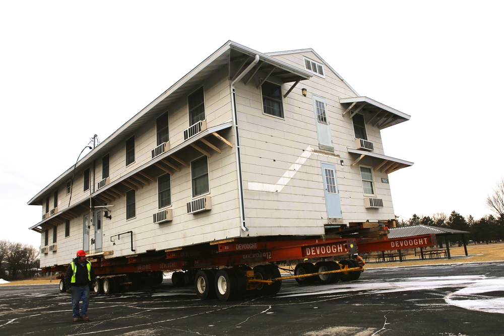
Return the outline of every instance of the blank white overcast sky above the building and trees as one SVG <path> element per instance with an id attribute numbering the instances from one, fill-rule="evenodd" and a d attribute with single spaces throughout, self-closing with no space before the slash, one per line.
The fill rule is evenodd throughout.
<path id="1" fill-rule="evenodd" d="M 183 3 L 183 4 L 182 4 Z M 40 245 L 27 201 L 233 40 L 313 48 L 411 120 L 382 132 L 397 216 L 490 214 L 504 177 L 504 2 L 0 2 L 0 239 Z"/>

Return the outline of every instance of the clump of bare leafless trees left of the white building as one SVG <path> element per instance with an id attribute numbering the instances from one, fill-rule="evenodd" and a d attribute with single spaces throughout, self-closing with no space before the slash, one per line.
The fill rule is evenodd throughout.
<path id="1" fill-rule="evenodd" d="M 0 240 L 0 279 L 31 278 L 40 265 L 39 250 L 29 244 Z"/>

